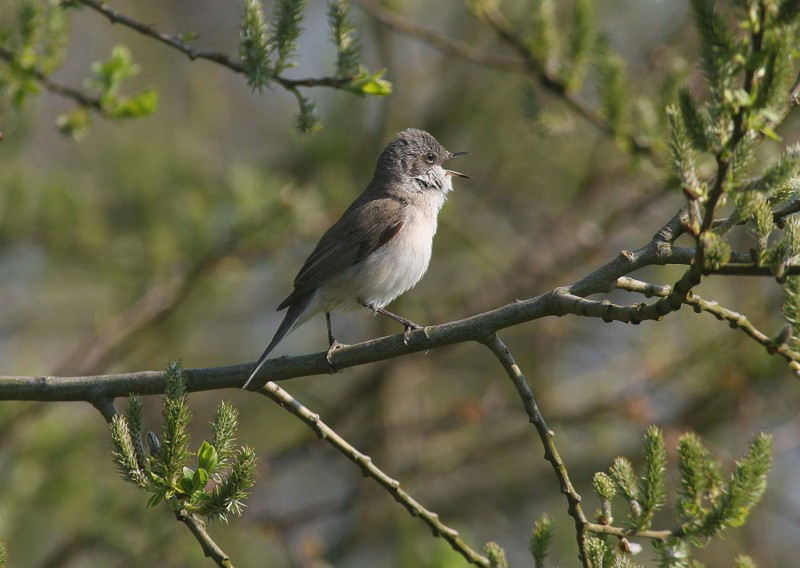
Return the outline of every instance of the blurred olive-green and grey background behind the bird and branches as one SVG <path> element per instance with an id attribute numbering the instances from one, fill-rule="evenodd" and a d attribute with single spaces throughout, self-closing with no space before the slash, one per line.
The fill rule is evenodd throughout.
<path id="1" fill-rule="evenodd" d="M 410 21 L 513 55 L 463 3 L 396 0 Z M 511 21 L 522 2 L 502 5 Z M 571 3 L 559 7 L 566 17 Z M 266 3 L 268 9 L 269 2 Z M 7 19 L 15 0 L 0 0 Z M 238 53 L 239 3 L 215 0 L 119 4 L 167 33 Z M 561 14 L 563 10 L 564 14 Z M 278 303 L 322 232 L 369 181 L 398 130 L 430 131 L 470 151 L 440 217 L 431 267 L 390 308 L 425 324 L 480 313 L 567 284 L 647 243 L 683 198 L 655 158 L 574 114 L 522 74 L 445 55 L 402 35 L 355 4 L 364 63 L 388 69 L 383 99 L 313 89 L 325 127 L 294 129 L 297 103 L 263 95 L 244 77 L 190 61 L 87 9 L 71 12 L 68 58 L 54 75 L 81 87 L 92 62 L 126 44 L 142 72 L 127 87 L 155 87 L 147 119 L 93 118 L 80 140 L 56 117 L 72 103 L 44 93 L 22 112 L 0 111 L 0 372 L 101 374 L 253 361 L 282 314 Z M 695 31 L 682 0 L 610 0 L 598 26 L 628 65 L 632 115 L 658 132 L 665 84 L 702 92 Z M 326 6 L 310 2 L 291 77 L 329 75 Z M 590 79 L 580 98 L 599 102 Z M 774 156 L 796 141 L 797 116 L 765 143 Z M 688 244 L 688 241 L 687 243 Z M 635 276 L 671 284 L 680 268 Z M 768 334 L 783 326 L 770 279 L 709 278 L 698 293 L 741 311 Z M 619 301 L 640 301 L 631 295 Z M 398 333 L 366 311 L 334 315 L 352 343 Z M 591 477 L 617 455 L 636 461 L 649 424 L 677 437 L 698 433 L 729 467 L 759 430 L 776 438 L 770 486 L 748 524 L 698 554 L 728 566 L 740 552 L 759 566 L 788 566 L 800 538 L 800 402 L 796 379 L 744 334 L 684 309 L 665 321 L 625 326 L 546 319 L 501 338 L 528 377 L 591 515 Z M 319 317 L 276 356 L 327 347 Z M 512 566 L 531 565 L 534 520 L 554 517 L 553 565 L 577 564 L 573 522 L 543 450 L 503 369 L 482 346 L 463 344 L 283 383 L 475 548 L 494 540 Z M 191 396 L 195 447 L 209 436 L 220 399 L 241 413 L 241 443 L 259 473 L 242 519 L 211 533 L 236 565 L 450 567 L 464 560 L 371 480 L 284 410 L 238 390 Z M 118 401 L 121 403 L 122 401 Z M 147 427 L 160 424 L 145 399 Z M 677 471 L 670 464 L 675 487 Z M 0 540 L 10 566 L 211 564 L 165 507 L 118 478 L 108 426 L 89 405 L 0 405 Z M 669 528 L 669 507 L 655 523 Z M 644 543 L 643 561 L 650 557 Z"/>

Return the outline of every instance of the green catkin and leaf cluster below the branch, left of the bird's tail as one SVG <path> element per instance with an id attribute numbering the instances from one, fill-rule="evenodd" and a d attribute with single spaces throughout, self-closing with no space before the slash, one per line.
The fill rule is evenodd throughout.
<path id="1" fill-rule="evenodd" d="M 147 433 L 145 452 L 143 405 L 131 396 L 124 415 L 111 421 L 112 457 L 122 478 L 151 493 L 148 507 L 166 500 L 173 510 L 186 510 L 211 521 L 227 522 L 241 515 L 247 490 L 255 481 L 256 456 L 248 447 L 235 448 L 238 415 L 226 402 L 211 423 L 212 441 L 204 441 L 194 454 L 189 450 L 191 413 L 183 369 L 170 362 L 165 371 L 162 439 Z M 213 487 L 209 489 L 209 482 Z"/>

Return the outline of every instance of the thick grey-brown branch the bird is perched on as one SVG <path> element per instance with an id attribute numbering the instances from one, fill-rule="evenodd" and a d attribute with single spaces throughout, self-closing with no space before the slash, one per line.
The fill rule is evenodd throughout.
<path id="1" fill-rule="evenodd" d="M 621 252 L 614 260 L 567 287 L 556 288 L 527 300 L 517 300 L 461 320 L 412 331 L 407 342 L 404 341 L 403 334 L 397 334 L 348 345 L 332 353 L 333 364 L 337 369 L 346 369 L 456 343 L 481 342 L 506 327 L 547 316 L 573 314 L 624 323 L 661 319 L 679 309 L 682 304 L 688 303 L 688 291 L 677 294 L 674 289 L 670 289 L 667 296 L 659 296 L 660 299 L 655 304 L 633 306 L 616 305 L 607 300 L 590 300 L 584 296 L 608 293 L 615 288 L 620 277 L 645 266 L 691 262 L 694 249 L 672 246 L 672 242 L 683 233 L 684 218 L 685 210 L 681 209 L 647 245 L 634 252 Z M 717 272 L 733 273 L 736 268 L 741 269 L 743 274 L 766 273 L 766 269 L 752 265 L 728 268 L 723 266 Z M 689 272 L 693 269 L 694 267 Z M 800 273 L 800 267 L 791 267 L 787 273 Z M 726 312 L 723 317 L 728 315 L 730 314 Z M 780 352 L 784 354 L 782 349 Z M 252 369 L 252 363 L 243 363 L 187 369 L 184 376 L 190 392 L 239 388 Z M 261 380 L 277 382 L 329 373 L 330 363 L 323 352 L 270 359 L 264 365 Z M 257 383 L 254 383 L 255 386 Z M 0 376 L 0 400 L 86 401 L 94 404 L 97 400 L 124 397 L 131 393 L 163 394 L 163 389 L 162 371 L 75 377 Z"/>

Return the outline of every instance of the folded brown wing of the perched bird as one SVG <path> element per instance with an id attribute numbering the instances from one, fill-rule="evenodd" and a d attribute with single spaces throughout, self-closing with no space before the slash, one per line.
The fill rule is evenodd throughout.
<path id="1" fill-rule="evenodd" d="M 294 280 L 294 290 L 279 310 L 316 290 L 345 269 L 370 255 L 397 235 L 403 226 L 406 201 L 363 194 L 328 229 Z"/>

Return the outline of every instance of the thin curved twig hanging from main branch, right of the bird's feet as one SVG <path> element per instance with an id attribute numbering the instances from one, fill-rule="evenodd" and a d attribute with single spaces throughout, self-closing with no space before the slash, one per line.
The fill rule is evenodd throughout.
<path id="1" fill-rule="evenodd" d="M 589 562 L 586 550 L 586 527 L 588 523 L 586 516 L 583 514 L 583 509 L 581 508 L 581 496 L 578 495 L 578 493 L 575 491 L 575 488 L 572 486 L 572 482 L 570 481 L 569 474 L 567 472 L 567 467 L 564 465 L 564 462 L 561 460 L 561 456 L 558 453 L 558 449 L 556 448 L 555 444 L 555 434 L 550 428 L 547 427 L 547 423 L 545 422 L 542 413 L 539 411 L 539 406 L 536 404 L 536 399 L 533 397 L 533 392 L 531 391 L 530 386 L 528 386 L 528 381 L 525 380 L 525 375 L 522 374 L 519 365 L 517 365 L 517 362 L 514 360 L 514 357 L 511 355 L 508 347 L 505 346 L 497 334 L 492 334 L 485 337 L 481 343 L 488 347 L 489 350 L 494 353 L 495 357 L 497 357 L 497 360 L 500 361 L 500 364 L 506 370 L 506 373 L 508 373 L 508 377 L 514 383 L 517 393 L 519 393 L 520 398 L 522 398 L 522 404 L 525 407 L 525 413 L 528 415 L 528 419 L 531 421 L 531 424 L 534 425 L 536 432 L 539 434 L 539 438 L 542 440 L 542 445 L 544 446 L 544 458 L 553 466 L 553 471 L 555 472 L 556 478 L 558 478 L 558 482 L 561 485 L 561 493 L 567 497 L 569 514 L 573 519 L 575 519 L 575 532 L 578 540 L 578 555 L 580 557 L 581 564 L 583 564 L 583 566 L 586 568 L 591 568 L 591 563 Z"/>

